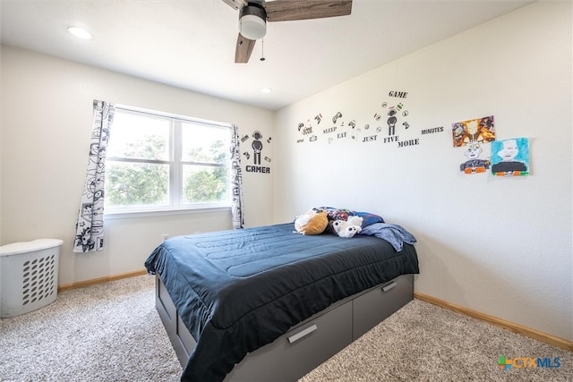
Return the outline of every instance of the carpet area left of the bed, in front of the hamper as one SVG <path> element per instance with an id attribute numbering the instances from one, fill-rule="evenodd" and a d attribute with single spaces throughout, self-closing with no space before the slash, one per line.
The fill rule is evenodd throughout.
<path id="1" fill-rule="evenodd" d="M 59 293 L 0 322 L 0 381 L 178 381 L 151 276 Z"/>

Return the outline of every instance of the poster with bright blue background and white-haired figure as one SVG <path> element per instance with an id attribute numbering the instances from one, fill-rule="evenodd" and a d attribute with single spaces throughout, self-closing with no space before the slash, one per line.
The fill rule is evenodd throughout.
<path id="1" fill-rule="evenodd" d="M 529 174 L 529 140 L 512 138 L 492 141 L 492 174 L 525 176 Z"/>

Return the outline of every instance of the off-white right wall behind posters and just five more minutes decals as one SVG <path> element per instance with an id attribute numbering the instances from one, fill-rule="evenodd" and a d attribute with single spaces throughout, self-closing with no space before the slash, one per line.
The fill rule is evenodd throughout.
<path id="1" fill-rule="evenodd" d="M 572 340 L 571 23 L 570 2 L 536 3 L 280 110 L 275 221 L 321 205 L 379 213 L 418 239 L 417 292 Z M 383 142 L 384 101 L 403 102 L 398 138 L 418 145 Z M 361 138 L 381 126 L 377 140 L 329 143 L 338 111 L 338 132 L 354 119 Z M 451 123 L 487 115 L 498 139 L 529 138 L 529 176 L 460 173 Z"/>

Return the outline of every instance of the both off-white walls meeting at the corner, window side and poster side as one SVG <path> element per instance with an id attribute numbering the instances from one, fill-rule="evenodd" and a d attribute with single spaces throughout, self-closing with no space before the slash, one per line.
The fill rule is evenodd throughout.
<path id="1" fill-rule="evenodd" d="M 72 252 L 91 103 L 106 99 L 272 136 L 272 173 L 244 172 L 247 225 L 290 221 L 324 204 L 380 213 L 418 239 L 417 292 L 572 340 L 571 38 L 570 2 L 536 3 L 274 115 L 3 46 L 0 244 L 63 239 L 60 284 L 69 284 L 141 269 L 161 233 L 228 227 L 227 213 L 115 219 L 106 250 Z M 408 92 L 410 128 L 398 126 L 398 137 L 419 145 L 383 142 L 385 120 L 373 115 L 398 101 L 390 90 Z M 361 137 L 365 123 L 381 125 L 379 140 L 328 143 L 321 130 L 338 111 L 338 125 L 354 119 Z M 296 143 L 298 123 L 318 113 L 319 140 Z M 449 126 L 486 115 L 495 116 L 499 139 L 530 139 L 529 176 L 459 173 L 465 157 L 452 148 Z M 439 126 L 444 132 L 420 133 Z"/>

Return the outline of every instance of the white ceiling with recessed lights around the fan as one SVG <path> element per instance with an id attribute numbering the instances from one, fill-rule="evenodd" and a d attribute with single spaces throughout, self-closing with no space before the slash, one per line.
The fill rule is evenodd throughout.
<path id="1" fill-rule="evenodd" d="M 5 45 L 277 110 L 529 3 L 354 0 L 349 16 L 269 22 L 266 60 L 259 40 L 248 64 L 222 0 L 1 0 L 0 13 Z"/>

